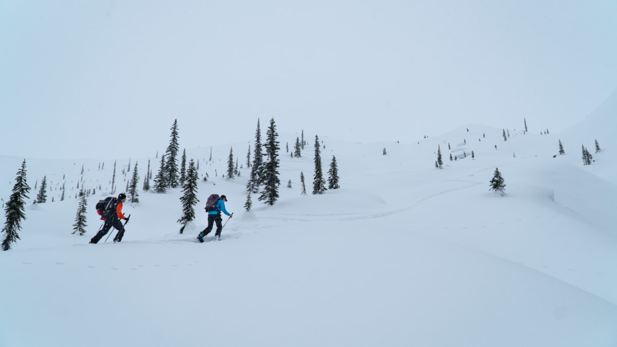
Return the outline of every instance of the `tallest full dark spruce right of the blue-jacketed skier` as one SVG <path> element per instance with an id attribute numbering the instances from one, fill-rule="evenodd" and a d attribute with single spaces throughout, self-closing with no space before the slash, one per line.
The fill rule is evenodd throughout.
<path id="1" fill-rule="evenodd" d="M 280 166 L 280 161 L 278 159 L 278 150 L 280 149 L 280 147 L 278 146 L 279 141 L 276 141 L 277 137 L 278 133 L 276 133 L 276 125 L 274 122 L 274 118 L 272 118 L 270 119 L 270 127 L 268 127 L 268 130 L 266 131 L 266 141 L 263 144 L 263 147 L 265 148 L 264 156 L 266 157 L 266 160 L 262 163 L 263 190 L 262 194 L 258 198 L 260 201 L 263 201 L 263 203 L 267 205 L 273 205 L 276 200 L 278 200 L 278 186 L 281 185 L 281 180 L 278 177 L 278 168 Z"/>

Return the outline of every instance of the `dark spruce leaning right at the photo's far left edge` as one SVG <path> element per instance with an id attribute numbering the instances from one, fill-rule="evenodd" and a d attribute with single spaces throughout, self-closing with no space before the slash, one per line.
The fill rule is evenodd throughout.
<path id="1" fill-rule="evenodd" d="M 4 205 L 4 212 L 6 220 L 2 233 L 5 233 L 4 240 L 2 241 L 2 251 L 8 251 L 11 243 L 15 243 L 19 239 L 18 230 L 21 230 L 21 220 L 26 219 L 25 205 L 28 199 L 28 192 L 30 186 L 26 182 L 26 160 L 23 159 L 21 169 L 17 170 L 17 178 L 15 178 L 15 185 L 13 186 L 12 193 L 10 194 L 9 201 Z"/>

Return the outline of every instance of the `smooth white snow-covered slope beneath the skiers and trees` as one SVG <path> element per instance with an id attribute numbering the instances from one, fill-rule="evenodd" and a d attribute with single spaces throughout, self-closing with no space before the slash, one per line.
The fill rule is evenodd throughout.
<path id="1" fill-rule="evenodd" d="M 213 146 L 211 162 L 209 144 L 187 148 L 200 177 L 210 177 L 199 181 L 196 220 L 178 233 L 180 188 L 140 191 L 138 204 L 125 204 L 131 219 L 116 244 L 113 235 L 88 244 L 114 159 L 117 193 L 136 161 L 143 179 L 147 160 L 155 175 L 159 159 L 131 158 L 123 176 L 128 157 L 27 158 L 30 198 L 46 175 L 48 203 L 28 201 L 21 240 L 0 253 L 0 346 L 616 346 L 616 111 L 613 93 L 578 126 L 547 135 L 540 132 L 550 125 L 531 117 L 524 134 L 521 117 L 508 141 L 502 128 L 475 123 L 381 143 L 305 134 L 302 158 L 285 151 L 299 134 L 277 123 L 274 206 L 254 195 L 244 211 L 246 164 L 240 177 L 221 177 L 230 147 L 246 162 L 254 134 Z M 341 178 L 340 190 L 323 195 L 310 194 L 315 135 L 325 146 L 324 176 L 336 156 Z M 566 154 L 553 157 L 558 140 Z M 581 144 L 592 165 L 582 165 Z M 22 161 L 0 157 L 3 203 Z M 72 225 L 82 165 L 80 187 L 96 194 L 79 236 Z M 505 196 L 489 191 L 495 167 Z M 226 194 L 235 214 L 221 241 L 210 234 L 201 244 L 210 193 Z"/>

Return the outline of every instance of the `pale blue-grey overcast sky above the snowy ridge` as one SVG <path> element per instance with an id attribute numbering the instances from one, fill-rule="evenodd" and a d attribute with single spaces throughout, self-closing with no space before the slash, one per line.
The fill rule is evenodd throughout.
<path id="1" fill-rule="evenodd" d="M 614 0 L 1 0 L 0 154 L 153 156 L 174 119 L 181 148 L 252 143 L 271 117 L 363 142 L 558 132 L 617 88 L 616 18 Z"/>

